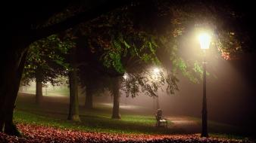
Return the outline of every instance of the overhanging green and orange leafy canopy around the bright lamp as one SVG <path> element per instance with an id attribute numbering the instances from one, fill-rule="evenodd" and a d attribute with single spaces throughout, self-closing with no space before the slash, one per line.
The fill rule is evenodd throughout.
<path id="1" fill-rule="evenodd" d="M 169 93 L 178 90 L 176 75 L 179 72 L 193 83 L 200 81 L 202 68 L 197 59 L 187 60 L 180 54 L 183 37 L 192 32 L 192 29 L 210 29 L 213 32 L 211 46 L 216 47 L 224 59 L 229 59 L 233 53 L 242 50 L 243 41 L 239 41 L 239 34 L 234 29 L 223 28 L 225 25 L 229 26 L 227 20 L 235 22 L 239 18 L 234 17 L 234 15 L 238 15 L 230 8 L 208 2 L 199 2 L 199 4 L 198 2 L 188 2 L 187 5 L 181 5 L 185 2 L 176 3 L 164 0 L 157 4 L 155 5 L 158 9 L 155 11 L 157 14 L 152 14 L 154 13 L 152 12 L 153 8 L 140 9 L 143 5 L 148 6 L 147 4 L 126 6 L 126 8 L 117 8 L 87 23 L 81 23 L 77 27 L 80 34 L 86 36 L 86 41 L 88 41 L 86 48 L 89 48 L 95 59 L 99 60 L 100 64 L 108 68 L 111 73 L 131 72 L 130 74 L 134 74 L 135 69 L 132 66 L 146 65 L 136 69 L 138 72 L 134 78 L 137 79 L 131 80 L 133 81 L 132 85 L 126 84 L 127 88 L 130 88 L 127 91 L 132 92 L 133 95 L 139 92 L 138 86 L 142 86 L 142 89 L 151 95 L 154 95 L 154 92 L 161 87 L 155 83 L 148 84 L 150 80 L 142 75 L 142 73 L 146 73 L 150 64 L 151 66 L 165 66 L 171 63 L 170 73 L 164 75 L 165 80 L 161 80 L 168 84 Z M 61 19 L 65 19 L 64 17 L 70 17 L 76 12 L 66 11 L 64 14 L 56 15 L 53 23 L 58 23 Z M 151 17 L 154 15 L 156 17 Z M 151 19 L 145 20 L 145 17 Z M 147 21 L 151 23 L 146 23 Z M 164 25 L 166 25 L 158 26 L 158 23 L 162 22 L 165 22 Z M 159 50 L 164 50 L 170 61 L 161 61 Z M 131 59 L 136 59 L 139 62 L 131 64 Z M 61 61 L 56 60 L 58 64 L 62 64 Z M 139 72 L 141 73 L 139 74 Z M 210 74 L 207 72 L 207 75 Z"/>

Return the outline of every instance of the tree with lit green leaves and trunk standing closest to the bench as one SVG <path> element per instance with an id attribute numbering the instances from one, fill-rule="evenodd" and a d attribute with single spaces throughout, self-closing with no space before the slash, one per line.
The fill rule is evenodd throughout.
<path id="1" fill-rule="evenodd" d="M 119 11 L 126 10 L 121 9 Z M 99 17 L 97 20 L 93 20 L 90 23 L 80 25 L 81 34 L 86 35 L 87 38 L 87 42 L 83 44 L 86 45 L 85 48 L 87 49 L 86 57 L 93 57 L 92 59 L 94 60 L 90 59 L 91 62 L 93 61 L 92 66 L 100 68 L 100 71 L 104 71 L 111 79 L 113 78 L 113 80 L 107 80 L 109 83 L 107 87 L 114 96 L 113 118 L 120 118 L 120 81 L 116 81 L 115 78 L 120 78 L 124 74 L 125 68 L 122 63 L 128 59 L 128 56 L 140 56 L 139 59 L 152 61 L 158 60 L 154 59 L 155 45 L 151 44 L 152 36 L 148 36 L 145 32 L 133 29 L 133 24 L 131 24 L 130 19 L 126 20 L 126 13 L 124 12 L 123 14 L 124 15 L 117 15 L 113 12 L 110 15 Z M 120 21 L 122 22 L 115 20 L 117 17 L 121 17 Z M 102 21 L 104 23 L 102 23 Z M 121 25 L 126 25 L 126 27 L 123 29 Z M 102 29 L 105 30 L 102 31 Z M 127 44 L 128 42 L 124 40 L 122 33 L 119 31 L 126 32 L 126 38 L 130 40 L 129 42 L 131 42 L 131 44 L 132 42 L 134 43 L 132 44 L 133 46 Z M 146 47 L 148 45 L 151 47 L 149 50 Z M 139 48 L 141 48 L 140 51 Z M 105 65 L 105 68 L 102 65 Z M 95 72 L 88 69 L 86 69 L 86 71 L 86 74 L 83 75 L 87 75 L 88 78 L 83 81 L 89 83 L 86 86 L 86 90 L 89 90 L 90 87 L 92 87 L 90 84 L 95 84 L 95 78 L 93 79 L 94 82 L 91 82 L 89 78 L 96 76 L 92 76 Z M 111 81 L 115 84 L 111 85 Z M 89 94 L 87 94 L 87 96 L 89 96 Z"/>

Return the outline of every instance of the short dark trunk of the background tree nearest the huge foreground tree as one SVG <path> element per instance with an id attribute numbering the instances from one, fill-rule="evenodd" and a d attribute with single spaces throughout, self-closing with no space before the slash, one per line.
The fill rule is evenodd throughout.
<path id="1" fill-rule="evenodd" d="M 40 68 L 36 69 L 36 103 L 42 102 L 42 72 Z"/>

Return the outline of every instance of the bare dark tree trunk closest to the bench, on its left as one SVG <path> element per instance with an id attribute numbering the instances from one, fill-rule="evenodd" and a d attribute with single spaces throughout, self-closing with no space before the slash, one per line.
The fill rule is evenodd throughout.
<path id="1" fill-rule="evenodd" d="M 112 80 L 112 94 L 114 97 L 113 101 L 113 110 L 112 110 L 112 118 L 113 119 L 120 119 L 121 115 L 119 112 L 119 99 L 120 99 L 120 83 L 119 83 L 119 78 L 113 78 Z"/>

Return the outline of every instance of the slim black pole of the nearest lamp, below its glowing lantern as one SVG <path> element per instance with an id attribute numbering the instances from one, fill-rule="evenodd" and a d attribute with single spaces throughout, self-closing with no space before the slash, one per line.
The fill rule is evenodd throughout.
<path id="1" fill-rule="evenodd" d="M 205 61 L 205 50 L 203 59 L 204 68 L 204 79 L 203 79 L 203 102 L 201 111 L 201 137 L 208 137 L 208 124 L 207 124 L 207 100 L 206 100 L 206 61 Z"/>

